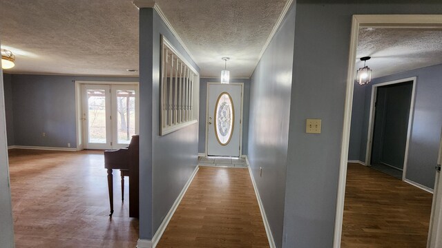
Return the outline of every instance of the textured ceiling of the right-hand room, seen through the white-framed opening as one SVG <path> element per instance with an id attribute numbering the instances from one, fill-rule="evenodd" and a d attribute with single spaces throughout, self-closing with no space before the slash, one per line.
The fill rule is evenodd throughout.
<path id="1" fill-rule="evenodd" d="M 356 68 L 367 61 L 372 78 L 442 63 L 442 30 L 410 28 L 361 28 Z"/>

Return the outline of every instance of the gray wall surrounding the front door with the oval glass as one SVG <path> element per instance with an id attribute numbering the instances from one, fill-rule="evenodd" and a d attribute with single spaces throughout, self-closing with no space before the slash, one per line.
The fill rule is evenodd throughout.
<path id="1" fill-rule="evenodd" d="M 242 154 L 247 155 L 249 143 L 249 97 L 250 79 L 230 79 L 231 83 L 244 83 L 244 103 L 242 111 Z M 206 105 L 207 105 L 207 83 L 220 82 L 220 79 L 202 78 L 200 80 L 200 127 L 198 136 L 198 152 L 206 152 Z"/>

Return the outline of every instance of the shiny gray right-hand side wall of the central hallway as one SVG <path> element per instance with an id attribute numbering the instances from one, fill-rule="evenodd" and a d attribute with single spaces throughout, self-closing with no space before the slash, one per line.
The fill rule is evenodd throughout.
<path id="1" fill-rule="evenodd" d="M 291 8 L 250 83 L 248 157 L 277 247 L 282 245 L 284 220 L 294 21 Z"/>

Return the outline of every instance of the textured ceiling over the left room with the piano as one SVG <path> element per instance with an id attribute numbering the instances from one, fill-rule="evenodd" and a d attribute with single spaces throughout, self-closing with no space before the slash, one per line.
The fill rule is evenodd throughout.
<path id="1" fill-rule="evenodd" d="M 2 47 L 11 73 L 133 75 L 138 10 L 129 0 L 1 0 Z"/>

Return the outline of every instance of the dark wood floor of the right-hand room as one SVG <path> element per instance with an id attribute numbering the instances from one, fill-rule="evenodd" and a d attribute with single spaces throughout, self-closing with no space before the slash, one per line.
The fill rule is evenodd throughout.
<path id="1" fill-rule="evenodd" d="M 349 163 L 341 247 L 425 248 L 432 194 Z"/>

